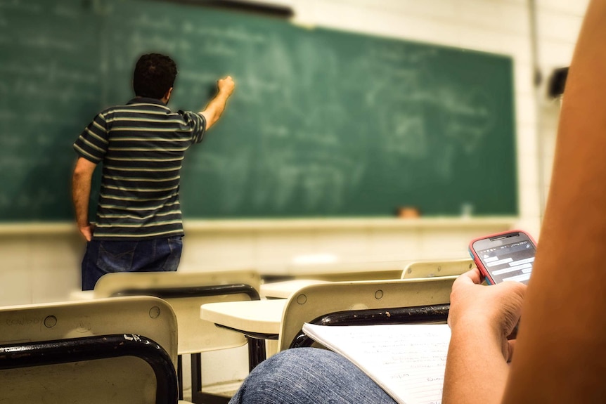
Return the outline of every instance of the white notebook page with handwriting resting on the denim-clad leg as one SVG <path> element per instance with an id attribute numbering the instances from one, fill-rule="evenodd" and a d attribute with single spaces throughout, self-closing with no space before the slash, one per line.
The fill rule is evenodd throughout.
<path id="1" fill-rule="evenodd" d="M 446 324 L 323 326 L 305 334 L 349 358 L 401 404 L 440 404 L 451 337 Z"/>

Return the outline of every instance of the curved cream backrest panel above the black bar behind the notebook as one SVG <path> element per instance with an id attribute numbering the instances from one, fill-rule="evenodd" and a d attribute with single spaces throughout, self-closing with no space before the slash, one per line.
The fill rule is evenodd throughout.
<path id="1" fill-rule="evenodd" d="M 287 349 L 303 327 L 321 315 L 373 308 L 400 308 L 450 303 L 456 276 L 411 280 L 329 282 L 299 289 L 282 315 L 278 351 Z"/>

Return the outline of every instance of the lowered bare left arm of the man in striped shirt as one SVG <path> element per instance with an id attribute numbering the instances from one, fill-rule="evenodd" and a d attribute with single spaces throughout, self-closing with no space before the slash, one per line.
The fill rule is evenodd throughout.
<path id="1" fill-rule="evenodd" d="M 91 241 L 94 230 L 89 222 L 89 200 L 96 165 L 84 157 L 79 157 L 72 174 L 72 200 L 76 212 L 76 223 L 86 241 Z"/>

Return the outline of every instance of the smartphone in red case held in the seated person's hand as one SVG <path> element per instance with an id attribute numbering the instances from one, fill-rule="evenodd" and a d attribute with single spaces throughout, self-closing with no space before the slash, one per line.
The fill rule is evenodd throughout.
<path id="1" fill-rule="evenodd" d="M 489 285 L 508 280 L 527 284 L 536 243 L 522 230 L 510 230 L 472 240 L 469 253 Z"/>

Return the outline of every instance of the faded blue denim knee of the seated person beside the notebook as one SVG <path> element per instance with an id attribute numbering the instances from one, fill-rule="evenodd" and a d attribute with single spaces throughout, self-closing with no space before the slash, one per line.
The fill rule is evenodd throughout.
<path id="1" fill-rule="evenodd" d="M 293 348 L 255 367 L 229 404 L 394 404 L 378 384 L 338 353 Z"/>

